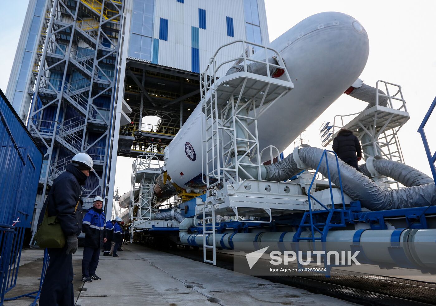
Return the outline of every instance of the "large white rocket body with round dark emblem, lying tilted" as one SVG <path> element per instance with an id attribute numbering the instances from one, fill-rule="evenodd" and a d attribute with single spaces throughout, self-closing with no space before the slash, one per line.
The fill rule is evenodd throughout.
<path id="1" fill-rule="evenodd" d="M 368 59 L 369 42 L 356 19 L 324 12 L 300 21 L 267 47 L 279 52 L 294 85 L 257 120 L 259 148 L 273 145 L 281 152 L 358 79 Z M 252 58 L 265 60 L 265 51 Z M 167 173 L 160 175 L 154 187 L 158 198 L 176 194 L 176 185 L 188 192 L 205 188 L 202 103 L 165 150 Z"/>

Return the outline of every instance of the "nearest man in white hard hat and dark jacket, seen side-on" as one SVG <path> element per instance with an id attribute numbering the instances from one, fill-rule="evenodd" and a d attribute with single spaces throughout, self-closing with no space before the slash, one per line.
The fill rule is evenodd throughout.
<path id="1" fill-rule="evenodd" d="M 77 251 L 77 236 L 82 231 L 82 193 L 89 171 L 92 171 L 92 158 L 85 153 L 74 155 L 65 172 L 54 180 L 45 199 L 38 224 L 42 223 L 45 210 L 48 217 L 57 216 L 65 234 L 63 248 L 48 248 L 50 262 L 41 289 L 39 305 L 74 305 L 72 254 Z"/>

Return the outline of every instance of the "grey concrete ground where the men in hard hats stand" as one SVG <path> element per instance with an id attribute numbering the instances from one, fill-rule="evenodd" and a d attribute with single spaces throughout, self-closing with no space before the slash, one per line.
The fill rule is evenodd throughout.
<path id="1" fill-rule="evenodd" d="M 76 305 L 355 305 L 329 296 L 181 258 L 138 245 L 124 245 L 119 258 L 100 257 L 101 281 L 81 281 L 82 249 L 73 255 Z M 43 251 L 24 250 L 17 286 L 7 296 L 35 291 Z M 24 306 L 31 299 L 7 301 Z"/>

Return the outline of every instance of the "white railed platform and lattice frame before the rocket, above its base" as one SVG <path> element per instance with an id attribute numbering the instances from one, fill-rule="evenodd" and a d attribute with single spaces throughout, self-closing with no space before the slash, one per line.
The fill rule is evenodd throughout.
<path id="1" fill-rule="evenodd" d="M 259 61 L 250 58 L 245 53 L 247 45 L 262 48 L 265 58 L 275 56 L 278 65 L 269 63 L 267 59 Z M 242 47 L 242 55 L 217 62 L 222 50 L 228 46 Z M 269 53 L 273 55 L 268 56 Z M 243 62 L 244 72 L 218 79 L 220 69 L 233 62 Z M 250 63 L 265 65 L 266 76 L 246 72 Z M 270 66 L 282 69 L 285 80 L 273 79 L 270 75 Z M 202 130 L 205 132 L 202 133 L 202 180 L 208 188 L 227 181 L 238 183 L 241 181 L 240 173 L 253 179 L 247 168 L 256 168 L 257 177 L 260 178 L 257 119 L 292 88 L 293 84 L 283 59 L 274 49 L 243 40 L 218 48 L 208 67 L 200 75 L 204 113 Z"/>

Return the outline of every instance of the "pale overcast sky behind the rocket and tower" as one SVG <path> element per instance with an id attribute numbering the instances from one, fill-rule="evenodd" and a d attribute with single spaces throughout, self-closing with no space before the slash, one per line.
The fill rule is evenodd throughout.
<path id="1" fill-rule="evenodd" d="M 211 0 L 209 0 L 211 1 Z M 10 4 L 12 3 L 12 4 Z M 0 88 L 6 92 L 28 0 L 5 1 L 0 18 Z M 410 120 L 399 132 L 405 163 L 430 175 L 422 141 L 416 132 L 436 95 L 436 1 L 289 1 L 265 0 L 270 41 L 304 18 L 323 11 L 339 11 L 356 18 L 366 29 L 370 51 L 361 79 L 371 86 L 385 80 L 402 86 Z M 20 9 L 17 9 L 20 8 Z M 328 77 L 328 76 L 326 76 Z M 316 86 L 316 84 L 314 84 Z M 343 95 L 303 133 L 304 142 L 321 147 L 318 128 L 337 114 L 356 113 L 366 103 Z M 436 114 L 426 130 L 436 145 Z M 433 120 L 432 120 L 433 119 Z M 436 146 L 433 145 L 433 150 Z M 285 150 L 292 152 L 293 144 Z M 116 187 L 130 189 L 131 162 L 119 158 Z"/>

